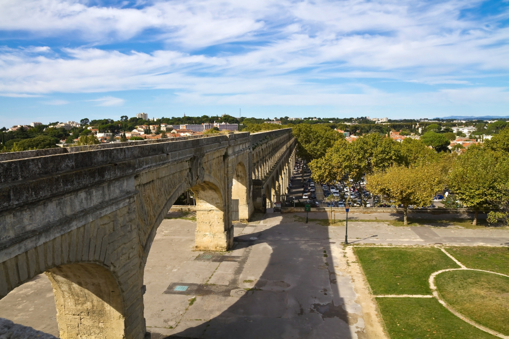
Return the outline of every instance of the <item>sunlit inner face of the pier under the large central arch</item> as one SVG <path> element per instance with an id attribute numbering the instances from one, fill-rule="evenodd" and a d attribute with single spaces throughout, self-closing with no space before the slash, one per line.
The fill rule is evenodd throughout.
<path id="1" fill-rule="evenodd" d="M 196 199 L 195 248 L 226 251 L 233 245 L 230 207 L 218 186 L 204 181 L 191 187 Z"/>

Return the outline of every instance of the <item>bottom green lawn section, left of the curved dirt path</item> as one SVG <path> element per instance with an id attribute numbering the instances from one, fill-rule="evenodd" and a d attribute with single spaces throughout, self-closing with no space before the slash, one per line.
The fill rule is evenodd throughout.
<path id="1" fill-rule="evenodd" d="M 447 311 L 435 298 L 377 298 L 392 339 L 495 339 Z"/>

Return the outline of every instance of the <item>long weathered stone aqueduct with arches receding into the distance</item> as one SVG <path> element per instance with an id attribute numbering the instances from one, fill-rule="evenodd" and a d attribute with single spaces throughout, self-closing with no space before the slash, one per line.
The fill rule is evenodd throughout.
<path id="1" fill-rule="evenodd" d="M 228 250 L 232 202 L 240 220 L 272 206 L 295 156 L 290 129 L 4 153 L 0 298 L 45 272 L 61 338 L 141 339 L 145 263 L 177 198 L 195 194 L 195 248 Z"/>

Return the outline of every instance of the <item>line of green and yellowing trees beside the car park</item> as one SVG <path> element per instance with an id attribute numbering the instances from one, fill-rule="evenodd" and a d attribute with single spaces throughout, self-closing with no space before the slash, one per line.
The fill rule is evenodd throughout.
<path id="1" fill-rule="evenodd" d="M 325 126 L 294 127 L 299 156 L 309 162 L 315 180 L 344 185 L 353 179 L 361 191 L 365 176 L 367 190 L 403 205 L 405 225 L 409 206 L 428 206 L 444 189 L 454 194 L 449 200 L 475 211 L 474 225 L 479 210 L 491 210 L 491 224 L 509 225 L 509 128 L 460 155 L 430 145 L 425 137 L 399 143 L 371 133 L 348 142 L 330 131 Z M 432 126 L 426 133 L 439 132 Z"/>

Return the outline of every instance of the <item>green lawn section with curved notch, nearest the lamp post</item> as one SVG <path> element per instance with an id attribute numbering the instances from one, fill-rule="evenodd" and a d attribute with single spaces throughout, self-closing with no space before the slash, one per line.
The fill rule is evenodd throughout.
<path id="1" fill-rule="evenodd" d="M 373 294 L 431 294 L 431 273 L 459 266 L 437 248 L 355 247 Z"/>

